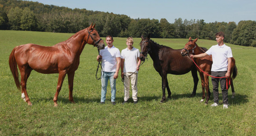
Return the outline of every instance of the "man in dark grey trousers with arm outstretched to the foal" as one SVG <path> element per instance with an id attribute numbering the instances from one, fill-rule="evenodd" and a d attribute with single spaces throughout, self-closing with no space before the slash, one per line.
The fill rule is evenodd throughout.
<path id="1" fill-rule="evenodd" d="M 198 55 L 190 55 L 191 57 L 198 58 L 204 57 L 207 55 L 212 55 L 213 57 L 213 65 L 212 65 L 212 76 L 213 77 L 226 77 L 227 79 L 230 78 L 230 69 L 231 69 L 231 57 L 232 51 L 231 48 L 224 44 L 224 33 L 218 32 L 215 34 L 217 45 L 212 46 L 209 50 L 205 53 L 198 54 Z M 222 99 L 223 99 L 223 108 L 228 108 L 228 88 L 226 87 L 226 78 L 212 78 L 213 83 L 213 97 L 214 97 L 214 104 L 211 106 L 218 106 L 219 105 L 219 82 L 220 87 L 222 90 Z"/>

